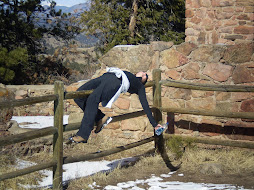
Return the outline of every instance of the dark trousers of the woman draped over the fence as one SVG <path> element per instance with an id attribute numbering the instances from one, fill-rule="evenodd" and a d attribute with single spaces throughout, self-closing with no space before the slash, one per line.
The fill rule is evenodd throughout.
<path id="1" fill-rule="evenodd" d="M 102 119 L 105 114 L 98 108 L 102 101 L 108 102 L 121 86 L 119 80 L 114 74 L 106 73 L 96 79 L 90 80 L 77 91 L 94 90 L 88 97 L 74 99 L 76 104 L 83 110 L 84 116 L 81 126 L 77 132 L 78 136 L 88 140 L 94 123 Z"/>

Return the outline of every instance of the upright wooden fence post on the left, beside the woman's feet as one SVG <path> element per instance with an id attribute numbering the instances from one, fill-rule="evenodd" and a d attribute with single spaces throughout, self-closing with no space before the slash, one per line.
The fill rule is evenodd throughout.
<path id="1" fill-rule="evenodd" d="M 63 189 L 63 110 L 64 110 L 64 85 L 61 81 L 55 82 L 55 94 L 58 95 L 54 101 L 54 127 L 58 132 L 53 136 L 53 159 L 57 164 L 53 166 L 53 189 Z"/>

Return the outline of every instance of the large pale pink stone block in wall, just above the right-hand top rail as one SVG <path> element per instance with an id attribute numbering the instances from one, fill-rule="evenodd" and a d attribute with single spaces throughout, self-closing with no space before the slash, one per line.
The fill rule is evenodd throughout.
<path id="1" fill-rule="evenodd" d="M 203 74 L 211 77 L 212 79 L 224 82 L 232 75 L 232 66 L 224 65 L 221 63 L 208 63 L 204 70 Z"/>

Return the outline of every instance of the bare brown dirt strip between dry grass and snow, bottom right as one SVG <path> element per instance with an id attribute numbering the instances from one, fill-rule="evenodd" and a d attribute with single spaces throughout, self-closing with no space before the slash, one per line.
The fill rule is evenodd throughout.
<path id="1" fill-rule="evenodd" d="M 120 182 L 135 181 L 136 179 L 148 179 L 151 175 L 160 176 L 168 174 L 168 169 L 165 163 L 156 164 L 150 167 L 137 170 L 135 167 L 123 168 L 124 175 L 114 176 L 107 180 L 107 183 L 96 182 L 103 189 L 107 185 L 117 185 Z M 178 176 L 184 174 L 184 176 Z M 199 171 L 190 172 L 188 168 L 178 169 L 171 177 L 164 178 L 163 181 L 179 181 L 179 182 L 194 182 L 194 183 L 213 183 L 213 184 L 231 184 L 235 186 L 243 186 L 245 189 L 254 189 L 254 171 L 253 173 L 243 173 L 241 175 L 204 175 Z M 140 188 L 146 188 L 146 185 L 139 185 Z"/>

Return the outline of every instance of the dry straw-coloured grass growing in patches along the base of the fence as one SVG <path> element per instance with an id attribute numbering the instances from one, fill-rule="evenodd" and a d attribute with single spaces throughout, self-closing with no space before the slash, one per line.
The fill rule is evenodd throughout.
<path id="1" fill-rule="evenodd" d="M 119 143 L 121 142 L 121 143 Z M 108 150 L 110 148 L 128 144 L 128 142 L 119 141 L 112 138 L 104 138 L 103 136 L 93 136 L 87 144 L 77 144 L 75 146 L 68 145 L 64 147 L 64 153 L 68 154 L 87 154 L 96 152 L 98 150 Z M 126 157 L 133 157 L 142 155 L 148 150 L 151 150 L 154 143 L 147 143 L 137 148 L 133 148 L 127 151 L 123 151 L 111 156 L 104 157 L 102 159 L 115 160 Z M 185 149 L 184 149 L 185 147 Z M 167 142 L 167 152 L 173 165 L 181 164 L 181 171 L 197 171 L 200 165 L 204 163 L 220 163 L 223 166 L 224 174 L 241 174 L 251 173 L 254 171 L 254 151 L 240 148 L 213 148 L 208 149 L 207 146 L 203 148 L 195 146 L 192 142 L 183 141 L 182 139 L 174 139 Z M 11 159 L 10 159 L 11 158 Z M 31 157 L 23 157 L 28 161 L 37 163 L 46 162 L 52 159 L 52 153 L 41 152 L 34 154 Z M 6 173 L 14 170 L 15 156 L 0 156 L 0 173 Z M 134 165 L 127 168 L 117 167 L 110 173 L 97 173 L 89 177 L 73 180 L 68 185 L 68 190 L 74 189 L 89 189 L 88 184 L 96 182 L 100 185 L 112 184 L 117 180 L 127 179 L 126 175 L 129 173 L 129 177 L 138 178 L 138 171 L 143 173 L 144 171 L 151 172 L 149 169 L 155 170 L 157 166 L 163 163 L 160 155 L 150 155 L 148 157 L 141 156 L 140 160 Z M 136 172 L 137 171 L 137 172 Z M 135 173 L 135 176 L 132 175 Z M 137 173 L 137 174 L 136 174 Z M 29 175 L 20 176 L 18 178 L 4 180 L 0 182 L 0 189 L 22 189 L 18 184 L 36 184 L 37 180 L 42 177 L 38 172 L 34 172 Z"/>

